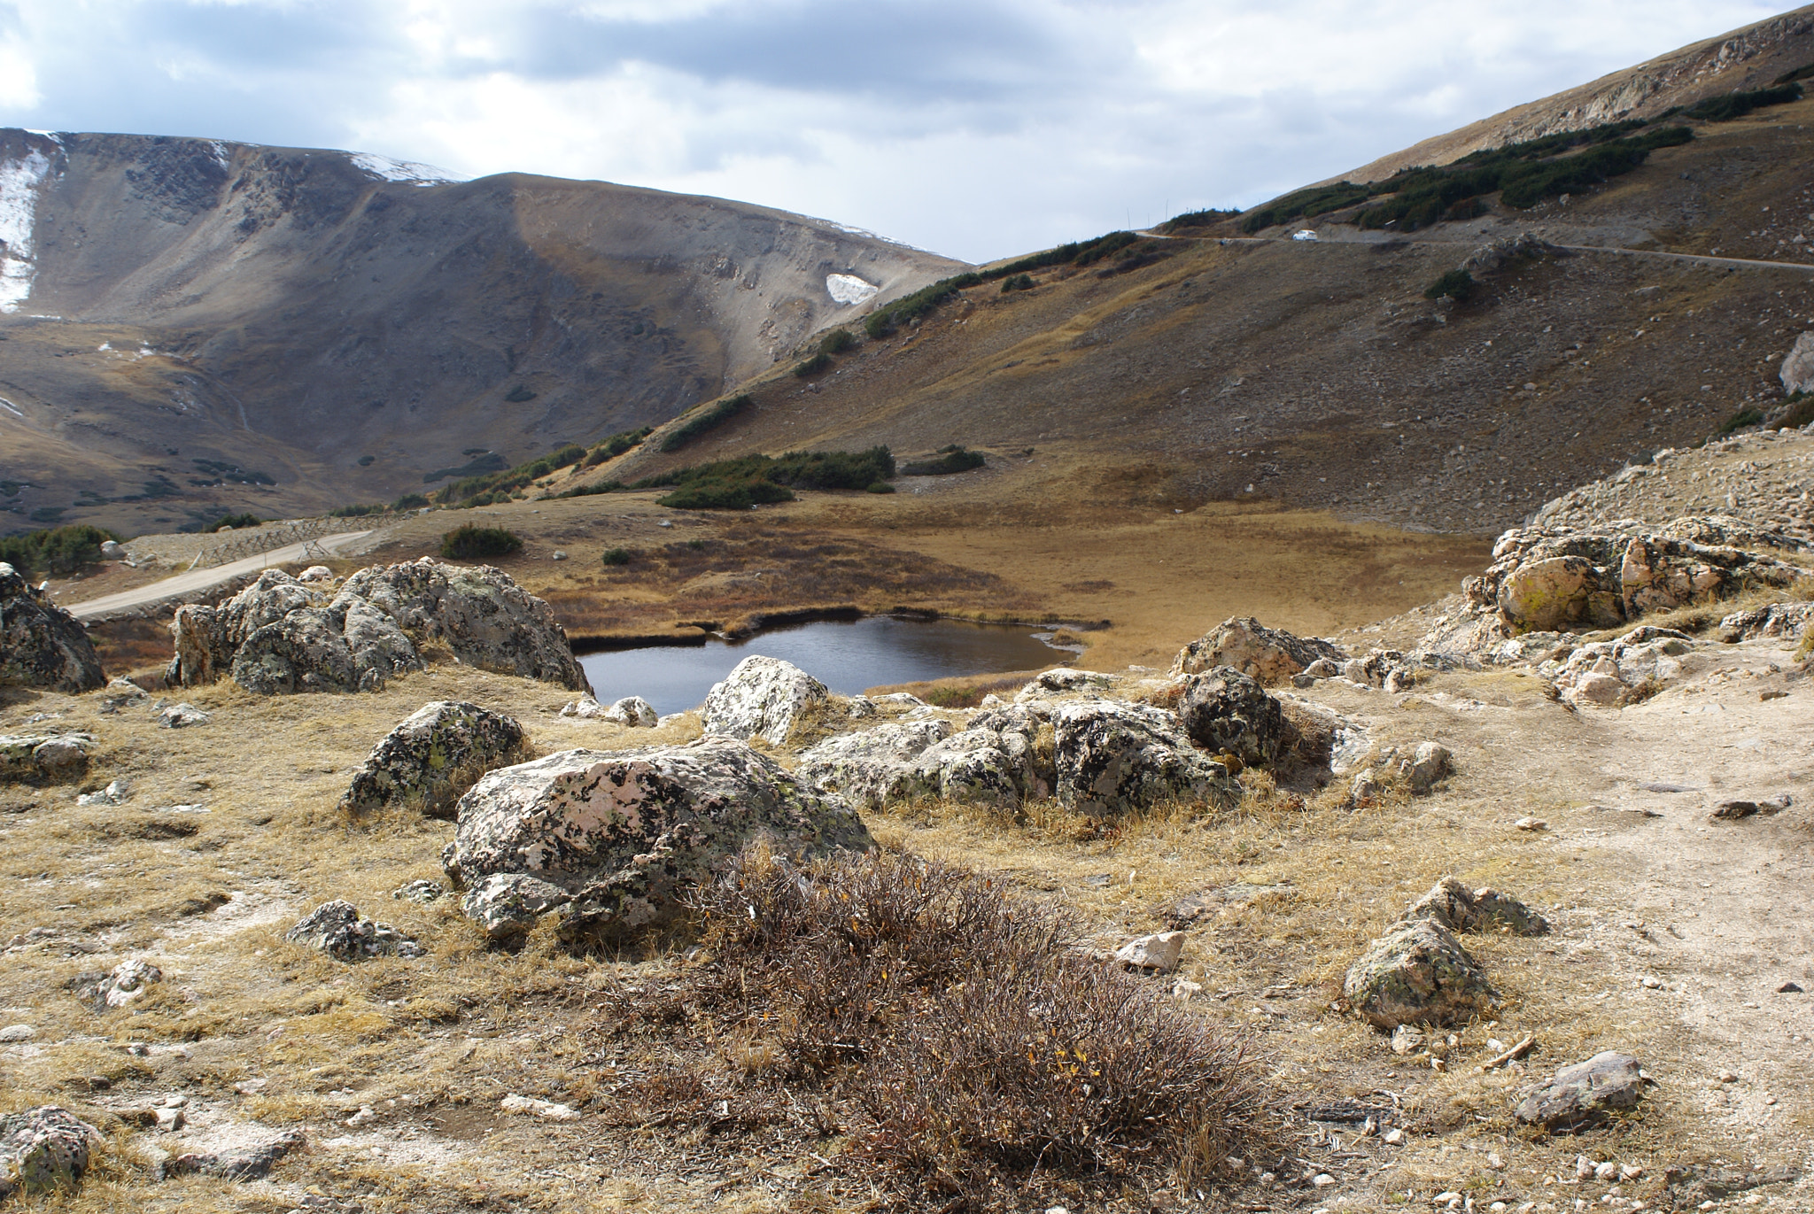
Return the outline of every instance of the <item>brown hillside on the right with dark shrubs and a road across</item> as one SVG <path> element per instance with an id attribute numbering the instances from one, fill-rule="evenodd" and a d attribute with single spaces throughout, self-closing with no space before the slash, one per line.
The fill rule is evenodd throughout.
<path id="1" fill-rule="evenodd" d="M 1814 100 L 1789 87 L 1738 116 L 1698 103 L 1810 65 L 1814 7 L 1341 178 L 1549 134 L 1500 152 L 1529 156 L 1526 194 L 1549 192 L 1464 183 L 1473 160 L 1453 165 L 1453 205 L 1442 194 L 1417 225 L 1368 227 L 1362 212 L 1399 194 L 1324 185 L 1117 236 L 1088 265 L 1047 258 L 1025 267 L 1025 290 L 969 285 L 813 381 L 766 374 L 756 408 L 682 452 L 648 445 L 599 475 L 960 443 L 994 455 L 1005 497 L 1058 475 L 1105 501 L 1279 501 L 1497 532 L 1656 448 L 1781 408 L 1781 361 L 1814 330 Z M 1605 156 L 1622 163 L 1576 185 L 1544 176 Z M 1313 194 L 1326 210 L 1293 210 Z M 1317 240 L 1292 240 L 1301 229 Z M 1440 298 L 1464 267 L 1471 296 Z"/>

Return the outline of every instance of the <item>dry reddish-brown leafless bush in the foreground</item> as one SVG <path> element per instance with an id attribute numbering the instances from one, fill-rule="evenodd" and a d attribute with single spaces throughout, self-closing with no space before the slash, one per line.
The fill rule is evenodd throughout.
<path id="1" fill-rule="evenodd" d="M 1078 947 L 1065 911 L 876 853 L 746 853 L 698 891 L 715 994 L 782 1072 L 853 1100 L 863 1150 L 981 1209 L 1032 1174 L 1206 1176 L 1259 1132 L 1244 1043 Z"/>

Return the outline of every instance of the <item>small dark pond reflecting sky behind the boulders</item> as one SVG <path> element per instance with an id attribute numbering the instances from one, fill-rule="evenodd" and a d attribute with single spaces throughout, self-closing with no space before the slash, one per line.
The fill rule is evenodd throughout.
<path id="1" fill-rule="evenodd" d="M 889 682 L 1045 670 L 1068 657 L 1034 639 L 1034 631 L 1029 626 L 871 615 L 776 628 L 736 642 L 586 653 L 579 664 L 604 704 L 640 695 L 658 713 L 678 713 L 698 708 L 711 684 L 751 653 L 793 662 L 838 695 Z"/>

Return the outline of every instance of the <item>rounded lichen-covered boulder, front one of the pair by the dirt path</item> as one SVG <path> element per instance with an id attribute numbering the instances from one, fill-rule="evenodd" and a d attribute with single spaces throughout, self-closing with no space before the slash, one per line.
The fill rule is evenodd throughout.
<path id="1" fill-rule="evenodd" d="M 1348 967 L 1342 994 L 1373 1025 L 1453 1023 L 1498 1002 L 1460 940 L 1429 918 L 1393 924 Z"/>

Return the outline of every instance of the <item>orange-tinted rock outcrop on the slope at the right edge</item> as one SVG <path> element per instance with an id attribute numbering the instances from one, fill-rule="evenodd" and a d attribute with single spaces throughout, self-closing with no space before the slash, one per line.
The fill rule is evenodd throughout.
<path id="1" fill-rule="evenodd" d="M 1691 530 L 1694 519 L 1678 519 Z M 1613 628 L 1645 612 L 1785 588 L 1807 575 L 1745 548 L 1678 539 L 1667 530 L 1620 534 L 1515 528 L 1493 546 L 1493 564 L 1462 590 L 1493 610 L 1509 633 Z"/>

